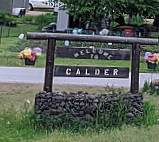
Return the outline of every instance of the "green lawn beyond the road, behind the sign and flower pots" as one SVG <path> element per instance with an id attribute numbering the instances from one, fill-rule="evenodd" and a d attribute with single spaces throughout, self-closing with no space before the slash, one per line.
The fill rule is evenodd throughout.
<path id="1" fill-rule="evenodd" d="M 51 19 L 56 15 L 46 15 L 46 19 Z M 46 48 L 47 48 L 47 41 L 36 41 L 36 40 L 20 40 L 18 36 L 21 33 L 25 34 L 27 32 L 40 32 L 39 25 L 35 25 L 35 19 L 32 16 L 27 15 L 25 17 L 26 21 L 31 21 L 34 24 L 18 24 L 16 28 L 10 29 L 10 35 L 8 37 L 8 27 L 3 27 L 2 32 L 2 40 L 0 43 L 0 66 L 25 66 L 24 62 L 18 59 L 18 53 L 22 51 L 25 47 L 41 47 L 43 49 L 44 54 L 38 58 L 35 67 L 45 67 L 45 60 L 46 60 Z M 19 19 L 19 21 L 25 21 L 24 19 Z M 96 47 L 108 47 L 104 43 L 82 43 L 82 42 L 71 42 L 72 46 L 90 46 L 96 45 Z M 64 42 L 57 42 L 57 45 L 64 45 Z M 131 49 L 131 46 L 128 45 L 120 45 L 120 44 L 113 44 L 111 48 L 126 48 Z M 158 52 L 158 46 L 142 46 L 142 48 L 146 51 L 151 52 Z M 89 60 L 89 59 L 61 59 L 55 58 L 55 64 L 57 65 L 81 65 L 81 66 L 104 66 L 104 67 L 128 67 L 129 71 L 131 71 L 131 62 L 130 61 L 109 61 L 109 60 Z M 143 57 L 140 59 L 140 72 L 149 72 L 149 73 L 157 73 L 159 72 L 159 66 L 157 66 L 156 71 L 147 69 L 146 63 L 144 63 Z"/>

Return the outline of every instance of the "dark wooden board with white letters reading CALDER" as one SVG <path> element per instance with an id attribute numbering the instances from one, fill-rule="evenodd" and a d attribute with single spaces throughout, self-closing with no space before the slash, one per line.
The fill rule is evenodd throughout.
<path id="1" fill-rule="evenodd" d="M 129 68 L 88 67 L 88 66 L 55 66 L 54 76 L 128 78 Z"/>

